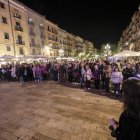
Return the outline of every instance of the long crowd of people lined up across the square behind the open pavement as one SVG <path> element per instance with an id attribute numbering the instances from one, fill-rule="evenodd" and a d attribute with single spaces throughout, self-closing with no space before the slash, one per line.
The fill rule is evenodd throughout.
<path id="1" fill-rule="evenodd" d="M 109 63 L 101 61 L 74 61 L 74 62 L 48 62 L 48 63 L 23 63 L 7 64 L 0 66 L 1 81 L 20 81 L 21 84 L 29 81 L 38 83 L 44 80 L 56 82 L 69 82 L 80 85 L 81 88 L 91 90 L 104 89 L 110 92 L 113 85 L 114 95 L 121 95 L 123 81 L 130 77 L 139 78 L 140 62 L 129 61 Z"/>

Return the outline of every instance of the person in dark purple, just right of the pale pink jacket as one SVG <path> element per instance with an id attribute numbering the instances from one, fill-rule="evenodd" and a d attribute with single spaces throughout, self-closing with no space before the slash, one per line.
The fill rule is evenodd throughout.
<path id="1" fill-rule="evenodd" d="M 99 90 L 99 88 L 100 88 L 100 70 L 99 70 L 97 64 L 95 64 L 92 74 L 93 74 L 95 89 Z"/>

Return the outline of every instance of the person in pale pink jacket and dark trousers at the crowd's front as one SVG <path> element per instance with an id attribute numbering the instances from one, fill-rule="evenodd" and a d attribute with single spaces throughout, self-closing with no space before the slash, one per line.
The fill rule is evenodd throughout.
<path id="1" fill-rule="evenodd" d="M 85 78 L 85 81 L 86 81 L 86 89 L 90 90 L 91 89 L 92 72 L 91 72 L 91 69 L 89 68 L 88 65 L 86 65 L 84 78 Z"/>

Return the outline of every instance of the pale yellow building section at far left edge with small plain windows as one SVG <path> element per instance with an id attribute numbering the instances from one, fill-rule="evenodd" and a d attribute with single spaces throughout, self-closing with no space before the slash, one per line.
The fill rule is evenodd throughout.
<path id="1" fill-rule="evenodd" d="M 0 1 L 0 55 L 15 55 L 8 1 Z"/>

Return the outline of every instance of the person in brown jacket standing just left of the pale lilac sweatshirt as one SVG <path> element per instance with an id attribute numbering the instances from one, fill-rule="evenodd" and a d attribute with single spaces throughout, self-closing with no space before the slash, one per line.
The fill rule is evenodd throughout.
<path id="1" fill-rule="evenodd" d="M 105 90 L 106 90 L 106 93 L 109 93 L 110 92 L 110 78 L 111 78 L 112 68 L 111 68 L 111 65 L 108 61 L 105 61 L 103 73 L 105 74 Z"/>

